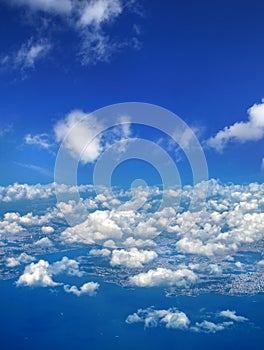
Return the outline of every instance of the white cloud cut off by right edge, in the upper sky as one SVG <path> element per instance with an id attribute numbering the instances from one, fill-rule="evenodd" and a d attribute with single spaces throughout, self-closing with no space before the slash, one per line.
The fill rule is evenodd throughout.
<path id="1" fill-rule="evenodd" d="M 207 140 L 209 147 L 221 152 L 230 141 L 244 143 L 258 141 L 264 137 L 264 101 L 248 109 L 248 121 L 226 126 Z"/>

